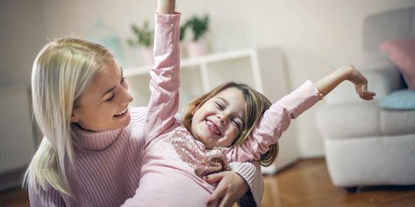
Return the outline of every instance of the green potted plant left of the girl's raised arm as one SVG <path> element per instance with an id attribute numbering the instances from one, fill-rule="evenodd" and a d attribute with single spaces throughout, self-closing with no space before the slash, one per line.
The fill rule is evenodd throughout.
<path id="1" fill-rule="evenodd" d="M 149 21 L 145 21 L 142 25 L 142 28 L 136 26 L 136 24 L 131 25 L 131 30 L 133 30 L 135 39 L 127 39 L 127 43 L 131 47 L 140 47 L 142 59 L 146 65 L 154 65 L 153 57 L 153 43 L 154 43 L 154 28 L 149 28 Z"/>

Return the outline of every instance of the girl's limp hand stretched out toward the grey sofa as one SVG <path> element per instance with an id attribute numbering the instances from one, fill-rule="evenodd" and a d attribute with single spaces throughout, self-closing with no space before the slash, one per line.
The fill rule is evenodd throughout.
<path id="1" fill-rule="evenodd" d="M 367 101 L 374 99 L 376 93 L 367 90 L 367 79 L 362 75 L 362 73 L 360 73 L 359 70 L 353 66 L 348 65 L 345 67 L 348 67 L 349 70 L 349 77 L 347 79 L 355 84 L 356 92 L 359 97 Z"/>

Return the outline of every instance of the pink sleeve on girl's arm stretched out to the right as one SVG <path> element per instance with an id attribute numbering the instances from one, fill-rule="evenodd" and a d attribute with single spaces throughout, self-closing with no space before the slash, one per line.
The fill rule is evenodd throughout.
<path id="1" fill-rule="evenodd" d="M 306 81 L 297 90 L 275 102 L 261 117 L 247 141 L 231 148 L 228 156 L 232 161 L 260 159 L 261 154 L 275 144 L 282 132 L 302 112 L 322 99 L 322 95 L 311 81 Z"/>

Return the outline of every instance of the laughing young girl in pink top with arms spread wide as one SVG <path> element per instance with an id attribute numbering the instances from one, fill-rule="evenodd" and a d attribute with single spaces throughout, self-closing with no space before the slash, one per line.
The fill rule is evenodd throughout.
<path id="1" fill-rule="evenodd" d="M 290 120 L 341 81 L 353 81 L 363 99 L 373 99 L 365 77 L 353 66 L 344 66 L 315 85 L 306 81 L 269 109 L 269 101 L 255 90 L 226 83 L 192 101 L 184 125 L 180 124 L 174 117 L 178 110 L 180 14 L 172 13 L 156 14 L 156 66 L 150 72 L 140 187 L 124 206 L 216 206 L 208 199 L 214 185 L 206 182 L 209 177 L 205 175 L 228 170 L 229 161 L 272 162 L 277 153 L 269 151 L 269 146 L 277 143 Z M 254 198 L 259 206 L 261 197 Z"/>

